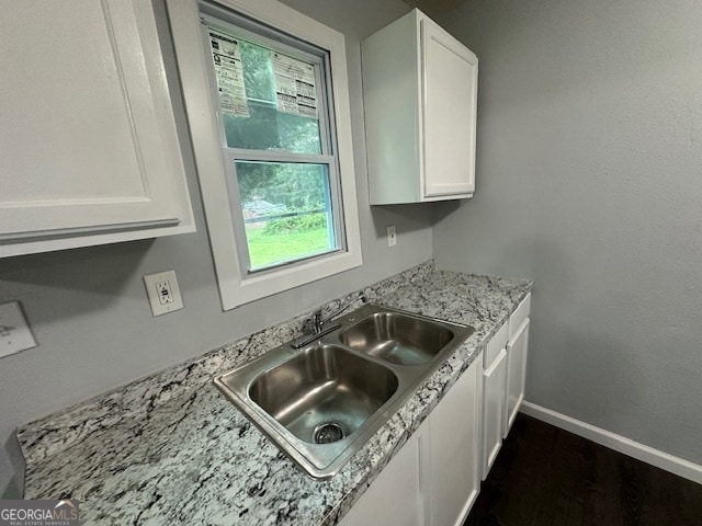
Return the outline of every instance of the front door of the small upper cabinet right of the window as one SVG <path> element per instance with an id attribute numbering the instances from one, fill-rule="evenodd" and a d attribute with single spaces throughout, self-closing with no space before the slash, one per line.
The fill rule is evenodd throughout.
<path id="1" fill-rule="evenodd" d="M 477 57 L 429 19 L 421 21 L 424 197 L 475 190 Z"/>

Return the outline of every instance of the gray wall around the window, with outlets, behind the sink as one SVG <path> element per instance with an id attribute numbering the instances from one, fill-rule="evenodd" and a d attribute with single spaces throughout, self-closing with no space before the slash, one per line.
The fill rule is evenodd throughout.
<path id="1" fill-rule="evenodd" d="M 399 0 L 286 3 L 347 35 L 362 267 L 223 312 L 191 152 L 185 163 L 197 233 L 0 260 L 0 301 L 20 300 L 39 346 L 0 359 L 0 496 L 11 480 L 14 428 L 115 386 L 201 355 L 432 256 L 431 210 L 367 202 L 360 39 L 400 16 Z M 159 7 L 161 9 L 162 7 Z M 372 10 L 373 16 L 367 14 Z M 186 134 L 182 107 L 177 111 Z M 183 135 L 183 144 L 188 144 Z M 387 248 L 386 225 L 398 244 Z M 185 309 L 152 318 L 141 276 L 174 268 Z"/>

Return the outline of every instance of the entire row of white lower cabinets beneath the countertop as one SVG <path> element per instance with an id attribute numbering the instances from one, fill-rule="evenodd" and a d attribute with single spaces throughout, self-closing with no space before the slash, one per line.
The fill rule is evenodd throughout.
<path id="1" fill-rule="evenodd" d="M 460 526 L 524 398 L 531 294 L 373 481 L 342 526 Z"/>

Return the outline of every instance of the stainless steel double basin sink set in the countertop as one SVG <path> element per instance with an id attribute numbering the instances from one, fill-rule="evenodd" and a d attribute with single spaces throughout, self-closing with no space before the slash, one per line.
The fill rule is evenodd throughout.
<path id="1" fill-rule="evenodd" d="M 314 479 L 328 479 L 474 331 L 377 305 L 215 378 L 222 392 Z"/>

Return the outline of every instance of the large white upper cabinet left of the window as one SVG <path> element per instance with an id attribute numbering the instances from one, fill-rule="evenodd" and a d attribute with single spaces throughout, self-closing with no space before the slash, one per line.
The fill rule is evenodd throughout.
<path id="1" fill-rule="evenodd" d="M 0 18 L 0 256 L 194 231 L 151 2 Z"/>

